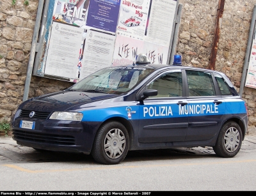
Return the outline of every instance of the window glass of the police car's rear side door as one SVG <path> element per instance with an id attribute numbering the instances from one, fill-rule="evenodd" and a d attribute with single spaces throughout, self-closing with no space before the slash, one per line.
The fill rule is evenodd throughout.
<path id="1" fill-rule="evenodd" d="M 189 96 L 215 96 L 210 72 L 186 70 Z"/>

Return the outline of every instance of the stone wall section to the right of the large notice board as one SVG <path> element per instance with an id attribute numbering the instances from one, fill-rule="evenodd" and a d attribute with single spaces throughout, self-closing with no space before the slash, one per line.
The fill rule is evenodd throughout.
<path id="1" fill-rule="evenodd" d="M 182 20 L 177 54 L 182 63 L 209 68 L 219 0 L 180 0 Z M 226 0 L 221 19 L 215 70 L 225 73 L 239 91 L 250 22 L 256 0 Z M 249 125 L 256 125 L 256 89 L 244 87 Z"/>

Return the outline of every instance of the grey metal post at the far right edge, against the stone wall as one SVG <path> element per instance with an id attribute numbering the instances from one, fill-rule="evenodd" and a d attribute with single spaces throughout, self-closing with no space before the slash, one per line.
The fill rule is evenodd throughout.
<path id="1" fill-rule="evenodd" d="M 250 53 L 251 53 L 252 40 L 253 40 L 253 34 L 254 34 L 254 29 L 255 29 L 255 17 L 256 17 L 256 5 L 254 5 L 254 8 L 253 8 L 250 33 L 249 33 L 247 47 L 246 47 L 246 54 L 244 57 L 244 68 L 243 68 L 243 73 L 242 73 L 242 78 L 241 78 L 240 89 L 239 89 L 240 96 L 243 95 L 244 84 L 245 84 L 247 70 L 248 70 L 249 61 L 250 61 L 249 57 L 250 57 Z"/>

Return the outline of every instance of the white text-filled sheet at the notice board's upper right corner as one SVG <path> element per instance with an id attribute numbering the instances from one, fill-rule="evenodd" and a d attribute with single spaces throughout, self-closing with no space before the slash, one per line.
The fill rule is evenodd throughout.
<path id="1" fill-rule="evenodd" d="M 148 11 L 145 41 L 169 47 L 177 1 L 152 1 Z"/>

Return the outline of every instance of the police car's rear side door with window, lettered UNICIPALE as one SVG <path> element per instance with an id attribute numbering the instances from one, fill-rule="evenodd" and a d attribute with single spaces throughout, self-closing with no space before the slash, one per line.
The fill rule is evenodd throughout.
<path id="1" fill-rule="evenodd" d="M 218 134 L 225 102 L 220 94 L 217 96 L 216 82 L 211 72 L 186 70 L 188 80 L 188 133 L 186 141 L 209 140 Z M 215 84 L 215 86 L 214 86 Z"/>

